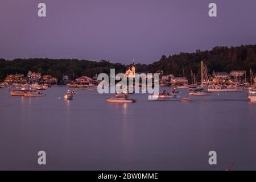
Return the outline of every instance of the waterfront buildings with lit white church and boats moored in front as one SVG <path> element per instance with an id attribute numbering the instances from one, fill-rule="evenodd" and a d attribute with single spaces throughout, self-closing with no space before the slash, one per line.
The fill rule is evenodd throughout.
<path id="1" fill-rule="evenodd" d="M 127 69 L 125 77 L 122 79 L 135 79 L 135 64 Z M 139 75 L 145 75 L 146 73 L 139 73 Z M 164 75 L 163 71 L 158 71 L 158 85 L 152 84 L 151 86 L 163 86 L 166 89 L 162 92 L 153 94 L 150 96 L 154 100 L 163 99 L 174 99 L 176 94 L 180 92 L 181 89 L 187 89 L 190 96 L 209 96 L 214 92 L 247 92 L 247 101 L 256 101 L 256 88 L 255 88 L 255 72 L 250 69 L 250 72 L 246 71 L 231 71 L 227 72 L 212 72 L 209 73 L 207 65 L 204 61 L 200 63 L 200 80 L 197 81 L 195 73 L 191 71 L 191 80 L 188 81 L 187 76 L 185 76 L 185 71 L 183 70 L 183 77 L 175 77 L 174 75 Z M 147 75 L 149 75 L 147 73 Z M 248 77 L 249 75 L 249 77 Z M 109 76 L 110 77 L 110 76 Z M 150 79 L 155 81 L 154 75 Z M 248 81 L 249 80 L 249 81 Z M 97 75 L 93 78 L 88 76 L 81 76 L 75 79 L 71 79 L 68 75 L 63 75 L 63 79 L 58 81 L 56 77 L 51 75 L 42 75 L 41 73 L 35 73 L 28 71 L 27 75 L 16 73 L 14 75 L 8 75 L 3 82 L 0 84 L 0 88 L 9 88 L 11 96 L 46 96 L 42 93 L 42 90 L 51 88 L 51 86 L 64 85 L 67 86 L 67 92 L 64 93 L 65 100 L 72 100 L 75 90 L 97 90 L 97 85 L 102 80 L 97 78 Z M 104 80 L 106 81 L 106 80 Z M 148 81 L 146 82 L 148 84 Z M 115 81 L 114 85 L 108 84 L 104 86 L 117 86 L 118 81 Z M 141 89 L 147 88 L 147 85 L 143 85 L 139 82 L 137 85 Z M 129 88 L 132 87 L 132 88 Z M 168 88 L 170 87 L 170 88 Z M 71 91 L 72 89 L 72 91 Z M 127 94 L 135 93 L 135 85 L 125 85 L 123 86 L 121 92 L 115 93 L 115 97 L 107 98 L 108 102 L 135 102 L 133 99 L 129 99 Z M 192 98 L 180 98 L 181 101 L 191 101 Z"/>

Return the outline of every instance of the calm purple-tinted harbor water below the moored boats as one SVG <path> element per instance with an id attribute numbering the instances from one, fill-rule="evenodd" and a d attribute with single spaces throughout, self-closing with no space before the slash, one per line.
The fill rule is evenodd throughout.
<path id="1" fill-rule="evenodd" d="M 171 90 L 171 88 L 161 88 Z M 246 92 L 109 104 L 111 94 L 65 86 L 46 97 L 11 97 L 0 90 L 0 169 L 234 170 L 256 169 L 256 103 Z M 191 98 L 181 102 L 180 98 Z M 47 165 L 38 165 L 38 151 Z M 217 152 L 210 166 L 208 152 Z"/>

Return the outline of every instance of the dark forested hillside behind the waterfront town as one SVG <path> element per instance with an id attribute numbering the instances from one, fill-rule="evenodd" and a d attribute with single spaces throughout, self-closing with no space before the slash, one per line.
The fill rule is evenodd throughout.
<path id="1" fill-rule="evenodd" d="M 256 44 L 240 47 L 214 47 L 210 51 L 197 50 L 193 53 L 180 52 L 172 56 L 162 56 L 159 61 L 152 64 L 137 63 L 136 72 L 155 73 L 162 70 L 164 75 L 185 76 L 190 78 L 191 70 L 200 77 L 200 61 L 207 64 L 209 73 L 213 71 L 245 70 L 249 74 L 250 68 L 256 71 Z M 0 80 L 7 74 L 28 71 L 40 72 L 42 75 L 52 75 L 61 80 L 63 75 L 71 78 L 80 76 L 93 77 L 99 73 L 110 73 L 110 68 L 115 68 L 115 73 L 124 73 L 130 65 L 114 64 L 110 61 L 89 61 L 77 59 L 0 59 Z"/>

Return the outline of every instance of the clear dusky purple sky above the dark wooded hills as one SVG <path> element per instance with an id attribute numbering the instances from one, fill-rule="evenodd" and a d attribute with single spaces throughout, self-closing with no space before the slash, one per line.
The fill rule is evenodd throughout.
<path id="1" fill-rule="evenodd" d="M 38 17 L 38 3 L 47 17 Z M 210 2 L 217 17 L 208 16 Z M 256 43 L 255 0 L 1 0 L 0 57 L 152 63 Z"/>

